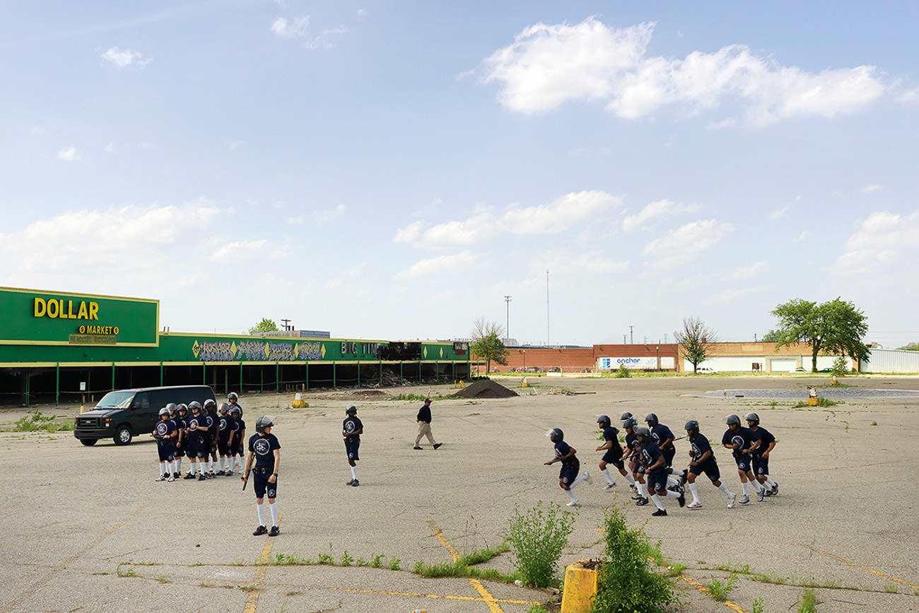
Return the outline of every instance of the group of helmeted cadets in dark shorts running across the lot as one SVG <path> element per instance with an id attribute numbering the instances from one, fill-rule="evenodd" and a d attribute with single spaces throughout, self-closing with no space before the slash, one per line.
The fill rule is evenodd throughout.
<path id="1" fill-rule="evenodd" d="M 689 464 L 686 469 L 673 467 L 676 453 L 673 431 L 661 424 L 656 414 L 645 415 L 644 421 L 648 425 L 639 426 L 638 420 L 630 413 L 619 416 L 622 428 L 625 430 L 625 449 L 621 447 L 618 439 L 618 428 L 612 426 L 607 415 L 597 415 L 596 424 L 603 430 L 604 443 L 596 448 L 605 451 L 599 463 L 600 472 L 606 478 L 606 490 L 612 490 L 616 481 L 609 472 L 608 466 L 613 465 L 621 474 L 629 487 L 633 490 L 632 499 L 635 505 L 647 505 L 649 499 L 657 509 L 652 513 L 655 517 L 667 515 L 664 508 L 664 498 L 675 498 L 680 506 L 686 505 L 686 485 L 692 494 L 692 502 L 686 505 L 689 509 L 702 508 L 702 501 L 698 496 L 696 478 L 704 473 L 728 499 L 728 508 L 733 508 L 736 503 L 746 505 L 750 502 L 750 486 L 753 485 L 757 499 L 762 502 L 766 496 L 778 494 L 778 483 L 769 477 L 769 454 L 776 446 L 776 437 L 772 436 L 766 428 L 759 426 L 759 415 L 749 413 L 744 416 L 747 427 L 741 426 L 738 415 L 728 415 L 725 423 L 728 429 L 721 437 L 721 445 L 732 450 L 734 461 L 737 464 L 737 473 L 740 476 L 743 496 L 737 497 L 728 486 L 720 481 L 718 462 L 715 452 L 709 445 L 709 440 L 699 433 L 698 421 L 690 419 L 686 422 L 686 438 L 689 440 Z M 564 441 L 564 434 L 559 428 L 552 428 L 546 436 L 555 444 L 555 457 L 546 462 L 547 465 L 562 462 L 559 472 L 559 486 L 568 495 L 568 506 L 580 506 L 580 502 L 573 493 L 573 489 L 584 482 L 590 482 L 590 474 L 578 475 L 580 460 L 575 455 L 577 449 Z M 680 437 L 684 438 L 684 437 Z"/>

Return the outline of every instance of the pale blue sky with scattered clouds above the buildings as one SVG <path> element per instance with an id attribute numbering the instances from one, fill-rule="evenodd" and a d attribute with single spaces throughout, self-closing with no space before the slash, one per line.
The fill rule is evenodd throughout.
<path id="1" fill-rule="evenodd" d="M 919 340 L 915 3 L 0 5 L 0 285 L 173 331 Z M 549 271 L 547 321 L 547 277 Z M 504 296 L 510 295 L 509 315 Z"/>

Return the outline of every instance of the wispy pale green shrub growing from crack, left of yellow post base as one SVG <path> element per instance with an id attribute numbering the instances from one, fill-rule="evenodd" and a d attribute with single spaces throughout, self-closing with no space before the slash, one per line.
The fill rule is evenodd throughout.
<path id="1" fill-rule="evenodd" d="M 504 537 L 524 585 L 549 587 L 558 583 L 555 573 L 573 529 L 573 513 L 562 511 L 556 503 L 544 506 L 540 500 L 522 515 L 518 507 L 514 508 Z"/>

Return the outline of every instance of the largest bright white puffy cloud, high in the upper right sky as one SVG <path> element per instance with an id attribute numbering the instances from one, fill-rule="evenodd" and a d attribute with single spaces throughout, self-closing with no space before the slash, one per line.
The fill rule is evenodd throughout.
<path id="1" fill-rule="evenodd" d="M 756 56 L 745 45 L 693 51 L 684 59 L 648 57 L 653 29 L 652 23 L 613 28 L 593 17 L 577 25 L 538 23 L 484 61 L 482 81 L 501 84 L 501 103 L 522 113 L 601 100 L 618 117 L 634 119 L 671 105 L 695 114 L 735 103 L 740 119 L 754 126 L 854 112 L 886 89 L 874 66 L 810 73 Z"/>

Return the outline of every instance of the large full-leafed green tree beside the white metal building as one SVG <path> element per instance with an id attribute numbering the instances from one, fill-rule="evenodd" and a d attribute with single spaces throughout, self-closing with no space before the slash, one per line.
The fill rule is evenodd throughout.
<path id="1" fill-rule="evenodd" d="M 870 350 L 862 337 L 868 332 L 868 318 L 852 302 L 836 298 L 817 304 L 794 300 L 779 304 L 772 312 L 778 318 L 780 340 L 776 348 L 793 343 L 811 346 L 811 371 L 817 372 L 817 354 L 840 354 L 866 359 Z"/>

